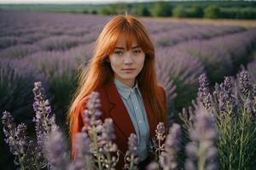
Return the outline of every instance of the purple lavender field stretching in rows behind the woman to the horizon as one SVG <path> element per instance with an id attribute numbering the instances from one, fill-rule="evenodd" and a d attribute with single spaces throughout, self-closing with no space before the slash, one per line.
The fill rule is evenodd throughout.
<path id="1" fill-rule="evenodd" d="M 32 89 L 34 82 L 42 82 L 55 122 L 68 138 L 65 122 L 69 102 L 77 87 L 76 76 L 90 61 L 96 37 L 110 19 L 110 16 L 90 14 L 0 11 L 1 113 L 9 111 L 16 123 L 24 122 L 28 135 L 36 139 Z M 169 151 L 168 148 L 163 151 L 161 167 L 253 169 L 256 166 L 253 161 L 256 158 L 253 149 L 256 146 L 256 28 L 158 20 L 142 22 L 154 42 L 155 66 L 166 88 L 168 125 L 172 127 L 169 134 L 179 135 L 177 139 L 183 140 L 177 143 L 180 149 L 175 153 L 180 153 L 175 166 L 167 168 L 170 167 L 168 163 L 175 160 L 163 161 L 168 154 L 173 154 L 173 146 L 170 146 Z M 216 126 L 209 125 L 214 118 L 204 112 L 217 115 Z M 252 116 L 246 119 L 238 116 L 245 117 L 244 114 Z M 227 122 L 221 123 L 222 119 Z M 229 127 L 235 122 L 237 130 Z M 245 128 L 246 125 L 250 127 Z M 201 128 L 206 131 L 200 132 Z M 183 134 L 177 134 L 181 131 Z M 203 133 L 212 136 L 201 136 Z M 244 134 L 244 139 L 238 134 Z M 15 169 L 15 157 L 11 156 L 3 136 L 1 130 L 1 167 Z M 166 142 L 169 139 L 176 144 L 172 136 L 167 136 Z M 195 158 L 195 150 L 200 150 L 203 142 L 210 149 L 202 152 L 212 155 L 202 159 L 206 162 L 202 166 L 208 167 L 200 168 L 200 165 L 195 166 L 195 162 L 201 160 L 199 156 Z M 150 168 L 154 167 L 152 163 Z"/>

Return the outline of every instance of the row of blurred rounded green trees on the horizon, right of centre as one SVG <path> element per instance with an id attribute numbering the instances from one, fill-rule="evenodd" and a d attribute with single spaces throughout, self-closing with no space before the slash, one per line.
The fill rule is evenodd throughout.
<path id="1" fill-rule="evenodd" d="M 187 2 L 188 3 L 188 2 Z M 224 3 L 225 4 L 225 3 Z M 84 14 L 134 14 L 137 16 L 176 17 L 176 18 L 209 18 L 209 19 L 256 19 L 256 3 L 253 5 L 224 5 L 223 3 L 170 3 L 156 2 L 153 4 L 112 3 L 108 6 L 84 10 Z"/>

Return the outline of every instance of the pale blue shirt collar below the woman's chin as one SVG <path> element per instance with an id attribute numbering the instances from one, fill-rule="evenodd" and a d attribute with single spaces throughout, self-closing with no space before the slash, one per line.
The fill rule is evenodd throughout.
<path id="1" fill-rule="evenodd" d="M 138 83 L 137 81 L 135 82 L 135 86 L 130 88 L 129 86 L 127 86 L 124 82 L 120 82 L 117 78 L 114 78 L 114 83 L 116 88 L 119 91 L 119 94 L 121 94 L 121 96 L 123 96 L 125 99 L 128 99 L 128 97 L 131 95 L 131 92 L 134 92 L 137 90 L 137 93 L 142 96 L 142 94 L 140 93 L 140 90 L 138 88 Z"/>

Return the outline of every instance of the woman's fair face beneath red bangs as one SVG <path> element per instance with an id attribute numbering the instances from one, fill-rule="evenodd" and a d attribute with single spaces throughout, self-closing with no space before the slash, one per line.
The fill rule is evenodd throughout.
<path id="1" fill-rule="evenodd" d="M 133 40 L 131 49 L 125 48 L 125 38 L 119 38 L 114 51 L 109 54 L 109 62 L 114 76 L 120 81 L 133 87 L 135 78 L 143 70 L 145 54 L 143 49 L 138 47 L 137 41 Z"/>

